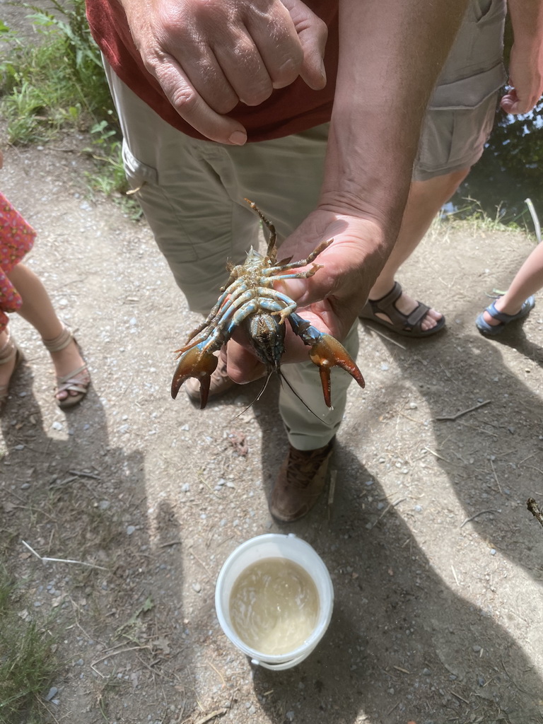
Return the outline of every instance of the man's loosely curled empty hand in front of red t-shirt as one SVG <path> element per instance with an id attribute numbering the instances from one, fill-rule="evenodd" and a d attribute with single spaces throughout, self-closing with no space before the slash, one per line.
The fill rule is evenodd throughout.
<path id="1" fill-rule="evenodd" d="M 210 140 L 243 145 L 227 114 L 300 75 L 324 88 L 324 22 L 300 0 L 122 0 L 146 68 L 177 113 Z"/>

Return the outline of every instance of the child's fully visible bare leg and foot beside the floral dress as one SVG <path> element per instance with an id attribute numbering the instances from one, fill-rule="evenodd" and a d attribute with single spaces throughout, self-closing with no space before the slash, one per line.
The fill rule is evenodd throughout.
<path id="1" fill-rule="evenodd" d="M 16 264 L 9 273 L 9 279 L 22 298 L 22 306 L 18 310 L 22 318 L 32 324 L 43 340 L 54 340 L 58 337 L 64 327 L 56 316 L 51 299 L 40 279 L 24 264 Z M 73 340 L 64 350 L 51 352 L 50 355 L 57 377 L 64 377 L 85 364 Z M 81 373 L 81 382 L 88 382 L 89 379 L 86 370 Z M 58 392 L 57 397 L 64 400 L 69 394 L 66 391 Z"/>

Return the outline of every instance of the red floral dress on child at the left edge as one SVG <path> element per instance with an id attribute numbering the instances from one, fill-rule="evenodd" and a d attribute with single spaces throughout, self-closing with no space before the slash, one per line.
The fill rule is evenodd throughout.
<path id="1" fill-rule="evenodd" d="M 33 247 L 35 231 L 0 193 L 0 332 L 7 327 L 6 312 L 15 312 L 22 299 L 7 274 Z"/>

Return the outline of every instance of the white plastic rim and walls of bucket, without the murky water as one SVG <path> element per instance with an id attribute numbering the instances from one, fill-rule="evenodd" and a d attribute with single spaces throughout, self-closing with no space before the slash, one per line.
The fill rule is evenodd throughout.
<path id="1" fill-rule="evenodd" d="M 315 628 L 303 644 L 285 654 L 264 654 L 249 647 L 237 636 L 230 620 L 230 594 L 245 568 L 265 558 L 286 558 L 298 563 L 313 580 L 319 594 L 319 615 Z M 224 562 L 216 581 L 215 608 L 222 630 L 232 644 L 251 657 L 251 662 L 266 669 L 290 669 L 313 651 L 328 628 L 334 607 L 334 587 L 326 565 L 313 548 L 294 534 L 269 533 L 256 536 L 237 547 Z"/>

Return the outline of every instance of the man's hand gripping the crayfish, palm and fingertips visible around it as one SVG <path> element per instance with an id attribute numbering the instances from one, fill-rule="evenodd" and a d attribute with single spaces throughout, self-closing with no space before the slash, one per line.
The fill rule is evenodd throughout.
<path id="1" fill-rule="evenodd" d="M 308 279 L 287 279 L 274 287 L 299 303 L 297 312 L 321 332 L 342 340 L 363 308 L 369 290 L 385 261 L 382 232 L 373 221 L 332 211 L 317 210 L 285 240 L 279 258 L 293 254 L 292 261 L 306 258 L 323 240 L 333 243 L 319 254 L 323 268 Z M 286 322 L 286 352 L 283 363 L 308 360 L 309 348 Z M 224 353 L 223 353 L 224 354 Z M 260 363 L 240 335 L 227 345 L 228 374 L 237 383 L 262 376 Z"/>

